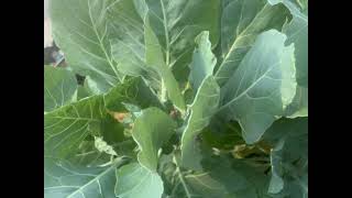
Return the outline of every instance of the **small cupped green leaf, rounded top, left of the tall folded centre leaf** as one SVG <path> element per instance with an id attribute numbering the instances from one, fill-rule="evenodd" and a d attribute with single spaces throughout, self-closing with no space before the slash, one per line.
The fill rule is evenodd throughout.
<path id="1" fill-rule="evenodd" d="M 156 170 L 158 150 L 174 134 L 176 122 L 164 111 L 148 108 L 135 120 L 132 136 L 139 144 L 139 162 L 152 172 Z"/>

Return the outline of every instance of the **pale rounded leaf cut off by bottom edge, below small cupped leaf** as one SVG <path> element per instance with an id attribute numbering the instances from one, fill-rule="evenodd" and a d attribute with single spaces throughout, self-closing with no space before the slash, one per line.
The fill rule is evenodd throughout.
<path id="1" fill-rule="evenodd" d="M 117 172 L 116 196 L 119 198 L 161 198 L 163 180 L 157 173 L 132 163 Z"/>

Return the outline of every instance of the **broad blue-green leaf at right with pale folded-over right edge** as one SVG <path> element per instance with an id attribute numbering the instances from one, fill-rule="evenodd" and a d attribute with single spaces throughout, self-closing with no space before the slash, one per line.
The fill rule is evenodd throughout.
<path id="1" fill-rule="evenodd" d="M 252 144 L 282 117 L 296 92 L 294 46 L 275 30 L 262 33 L 222 87 L 222 113 L 239 121 Z"/>

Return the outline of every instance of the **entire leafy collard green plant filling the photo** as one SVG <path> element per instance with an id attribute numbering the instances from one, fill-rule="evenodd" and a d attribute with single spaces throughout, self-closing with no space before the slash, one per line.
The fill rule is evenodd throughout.
<path id="1" fill-rule="evenodd" d="M 50 10 L 46 198 L 308 197 L 307 0 Z"/>

